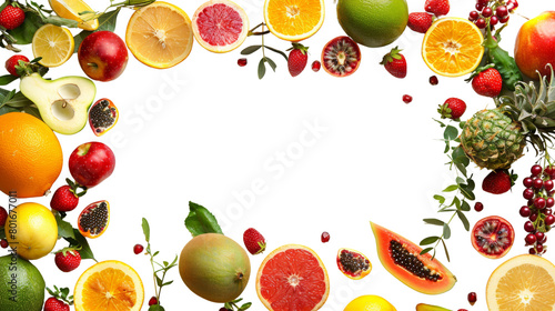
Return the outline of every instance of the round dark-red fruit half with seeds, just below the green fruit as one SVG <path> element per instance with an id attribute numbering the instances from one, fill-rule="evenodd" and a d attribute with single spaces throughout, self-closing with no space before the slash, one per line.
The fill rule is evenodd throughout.
<path id="1" fill-rule="evenodd" d="M 361 49 L 353 39 L 340 36 L 332 39 L 322 50 L 322 66 L 334 77 L 353 74 L 361 63 Z"/>

